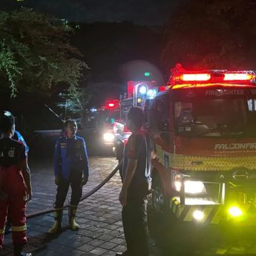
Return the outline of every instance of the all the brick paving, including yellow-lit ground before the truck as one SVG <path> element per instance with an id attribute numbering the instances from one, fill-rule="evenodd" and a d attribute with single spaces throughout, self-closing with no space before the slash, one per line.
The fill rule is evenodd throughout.
<path id="1" fill-rule="evenodd" d="M 30 159 L 30 162 L 33 159 Z M 117 165 L 114 157 L 90 157 L 91 175 L 83 193 L 91 191 Z M 33 200 L 28 203 L 27 214 L 52 208 L 56 195 L 53 182 L 52 160 L 30 163 L 33 180 Z M 121 187 L 119 174 L 99 191 L 82 201 L 77 212 L 79 231 L 68 229 L 68 211 L 65 210 L 63 232 L 47 234 L 53 223 L 53 214 L 45 214 L 27 221 L 29 243 L 25 248 L 36 256 L 115 255 L 125 251 L 121 206 L 118 202 Z M 67 200 L 68 203 L 68 200 Z M 149 212 L 151 255 L 256 255 L 254 229 L 214 229 L 203 226 L 180 226 L 168 217 L 156 218 Z M 11 254 L 11 237 L 7 235 L 0 255 Z"/>

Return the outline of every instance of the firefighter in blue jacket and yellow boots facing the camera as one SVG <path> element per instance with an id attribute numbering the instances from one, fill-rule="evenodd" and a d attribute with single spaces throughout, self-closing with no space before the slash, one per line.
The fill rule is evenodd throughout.
<path id="1" fill-rule="evenodd" d="M 48 233 L 55 234 L 61 229 L 62 212 L 68 188 L 71 186 L 71 200 L 68 206 L 71 230 L 79 229 L 76 223 L 76 209 L 82 196 L 82 186 L 88 182 L 88 155 L 85 140 L 76 136 L 76 121 L 69 119 L 64 124 L 66 136 L 59 137 L 54 150 L 54 175 L 57 186 L 54 203 L 55 221 Z"/>

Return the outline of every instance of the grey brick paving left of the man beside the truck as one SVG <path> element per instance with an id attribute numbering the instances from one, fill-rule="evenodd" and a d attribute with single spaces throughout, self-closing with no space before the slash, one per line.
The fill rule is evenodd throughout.
<path id="1" fill-rule="evenodd" d="M 83 194 L 91 191 L 116 167 L 114 157 L 91 157 L 91 172 Z M 56 186 L 53 180 L 51 160 L 30 163 L 33 200 L 27 204 L 27 214 L 53 207 Z M 33 251 L 33 255 L 115 255 L 125 251 L 125 239 L 122 231 L 121 206 L 118 195 L 121 182 L 119 174 L 99 191 L 79 204 L 77 222 L 78 231 L 68 229 L 68 209 L 63 216 L 63 232 L 53 236 L 47 229 L 53 224 L 53 214 L 45 214 L 27 220 L 28 245 L 24 251 Z M 66 203 L 70 198 L 70 191 Z M 4 249 L 0 255 L 12 255 L 11 236 L 4 240 Z"/>

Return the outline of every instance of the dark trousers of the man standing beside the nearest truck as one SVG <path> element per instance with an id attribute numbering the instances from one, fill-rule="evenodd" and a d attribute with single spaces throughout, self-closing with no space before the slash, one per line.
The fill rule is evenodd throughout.
<path id="1" fill-rule="evenodd" d="M 122 208 L 122 225 L 128 254 L 148 256 L 147 196 L 129 200 Z"/>

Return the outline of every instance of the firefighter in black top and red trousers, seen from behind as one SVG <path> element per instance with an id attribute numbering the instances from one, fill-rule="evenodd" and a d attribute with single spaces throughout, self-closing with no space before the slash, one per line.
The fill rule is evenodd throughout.
<path id="1" fill-rule="evenodd" d="M 5 112 L 0 116 L 0 249 L 4 241 L 7 209 L 11 211 L 14 256 L 30 256 L 22 252 L 27 243 L 26 203 L 31 199 L 30 169 L 22 142 L 12 140 L 15 119 Z"/>

